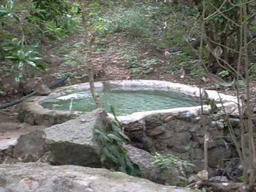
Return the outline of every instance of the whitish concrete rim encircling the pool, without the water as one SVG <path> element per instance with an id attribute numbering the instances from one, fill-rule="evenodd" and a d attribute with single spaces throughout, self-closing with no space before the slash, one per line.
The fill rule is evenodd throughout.
<path id="1" fill-rule="evenodd" d="M 183 93 L 189 95 L 190 97 L 199 97 L 199 88 L 196 86 L 190 86 L 180 83 L 173 83 L 167 81 L 157 81 L 157 80 L 120 80 L 120 81 L 104 81 L 104 82 L 95 82 L 95 87 L 101 88 L 105 86 L 111 87 L 113 90 L 159 90 L 159 91 L 173 91 L 178 93 Z M 60 97 L 62 95 L 67 95 L 79 91 L 90 90 L 90 84 L 81 83 L 65 87 L 60 87 L 52 91 L 51 94 L 47 96 L 34 96 L 25 101 L 23 101 L 19 107 L 19 119 L 20 121 L 27 122 L 30 124 L 43 124 L 43 125 L 53 125 L 63 123 L 71 118 L 75 118 L 81 114 L 80 111 L 61 111 L 61 110 L 51 110 L 46 109 L 41 106 L 41 103 L 46 99 Z M 205 90 L 209 95 L 210 99 L 215 101 L 223 101 L 223 105 L 229 108 L 229 111 L 234 112 L 234 108 L 237 107 L 236 102 L 237 98 L 232 95 L 227 95 L 223 93 L 218 93 L 214 90 Z M 221 104 L 217 105 L 221 107 Z M 210 109 L 210 106 L 203 106 L 204 111 Z M 180 108 L 171 108 L 171 109 L 162 109 L 162 110 L 153 110 L 153 111 L 140 111 L 135 112 L 130 115 L 118 116 L 118 119 L 122 122 L 133 122 L 139 121 L 145 116 L 152 114 L 164 114 L 175 115 L 179 113 L 189 113 L 189 114 L 198 114 L 198 111 L 201 109 L 201 106 L 195 107 L 180 107 Z M 111 116 L 109 114 L 109 116 Z"/>

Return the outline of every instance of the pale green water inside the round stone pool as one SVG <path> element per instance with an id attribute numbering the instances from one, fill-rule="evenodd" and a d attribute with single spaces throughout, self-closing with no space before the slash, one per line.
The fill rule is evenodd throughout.
<path id="1" fill-rule="evenodd" d="M 117 115 L 200 105 L 197 99 L 177 92 L 106 90 L 99 94 L 103 109 L 109 112 L 110 106 L 113 106 Z M 48 109 L 69 111 L 92 111 L 96 108 L 88 91 L 47 99 L 41 105 Z"/>

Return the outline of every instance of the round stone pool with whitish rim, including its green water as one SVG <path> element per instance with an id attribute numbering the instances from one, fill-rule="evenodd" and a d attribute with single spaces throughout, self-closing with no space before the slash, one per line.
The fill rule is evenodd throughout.
<path id="1" fill-rule="evenodd" d="M 147 115 L 170 116 L 179 113 L 198 113 L 199 89 L 179 83 L 155 80 L 123 80 L 94 83 L 100 93 L 103 108 L 115 108 L 120 121 L 139 121 Z M 210 99 L 225 106 L 234 105 L 231 95 L 206 90 Z M 217 105 L 221 107 L 221 104 Z M 203 106 L 204 110 L 210 106 Z M 60 87 L 50 95 L 31 97 L 19 105 L 19 120 L 33 125 L 54 125 L 95 109 L 90 94 L 90 84 L 81 83 Z"/>

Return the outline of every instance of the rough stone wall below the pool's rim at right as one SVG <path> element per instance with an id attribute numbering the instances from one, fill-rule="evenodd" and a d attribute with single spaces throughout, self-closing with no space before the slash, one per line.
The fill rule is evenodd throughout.
<path id="1" fill-rule="evenodd" d="M 138 121 L 124 122 L 123 129 L 139 148 L 150 152 L 173 154 L 199 166 L 204 159 L 204 134 L 209 130 L 209 165 L 236 156 L 224 114 L 205 114 L 184 111 L 178 114 L 151 114 Z M 239 119 L 230 118 L 239 137 Z M 204 124 L 204 127 L 203 125 Z"/>

